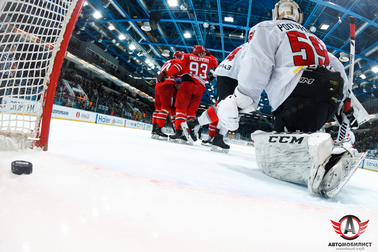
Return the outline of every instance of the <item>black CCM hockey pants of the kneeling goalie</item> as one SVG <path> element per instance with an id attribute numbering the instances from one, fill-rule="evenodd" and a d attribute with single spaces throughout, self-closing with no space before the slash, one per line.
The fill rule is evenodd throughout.
<path id="1" fill-rule="evenodd" d="M 273 111 L 274 131 L 319 131 L 337 112 L 343 87 L 339 72 L 304 71 L 290 96 Z"/>

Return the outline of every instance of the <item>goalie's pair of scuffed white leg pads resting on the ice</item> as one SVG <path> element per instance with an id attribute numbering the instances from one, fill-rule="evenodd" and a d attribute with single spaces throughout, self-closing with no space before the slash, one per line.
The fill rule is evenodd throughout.
<path id="1" fill-rule="evenodd" d="M 256 131 L 251 138 L 263 173 L 307 184 L 311 195 L 325 198 L 341 190 L 366 156 L 349 143 L 333 143 L 329 134 L 321 132 Z"/>

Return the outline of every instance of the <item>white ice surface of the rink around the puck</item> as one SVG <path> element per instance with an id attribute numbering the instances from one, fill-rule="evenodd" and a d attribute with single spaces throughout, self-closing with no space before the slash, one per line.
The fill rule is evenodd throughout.
<path id="1" fill-rule="evenodd" d="M 150 131 L 51 120 L 47 152 L 0 152 L 0 251 L 323 251 L 330 219 L 366 221 L 377 251 L 378 173 L 358 169 L 332 200 L 263 174 L 254 148 L 228 154 Z M 33 174 L 11 173 L 11 162 Z"/>

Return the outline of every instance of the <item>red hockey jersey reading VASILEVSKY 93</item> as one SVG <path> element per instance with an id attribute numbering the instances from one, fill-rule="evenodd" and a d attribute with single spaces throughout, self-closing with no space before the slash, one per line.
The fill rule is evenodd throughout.
<path id="1" fill-rule="evenodd" d="M 184 54 L 184 56 L 177 63 L 167 70 L 167 76 L 174 75 L 176 73 L 181 76 L 189 75 L 193 81 L 198 85 L 201 85 L 205 89 L 205 81 L 208 79 L 208 71 L 211 67 L 217 67 L 218 60 L 210 55 L 198 57 L 195 54 Z"/>

